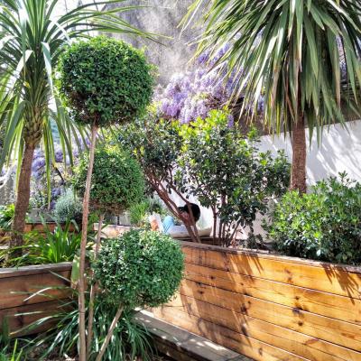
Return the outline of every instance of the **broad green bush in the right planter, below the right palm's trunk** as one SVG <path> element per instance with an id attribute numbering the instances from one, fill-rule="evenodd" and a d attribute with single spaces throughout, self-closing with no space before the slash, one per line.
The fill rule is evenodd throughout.
<path id="1" fill-rule="evenodd" d="M 285 255 L 361 264 L 361 184 L 330 178 L 310 194 L 286 193 L 271 215 L 268 236 Z"/>

